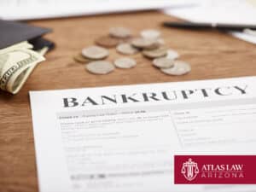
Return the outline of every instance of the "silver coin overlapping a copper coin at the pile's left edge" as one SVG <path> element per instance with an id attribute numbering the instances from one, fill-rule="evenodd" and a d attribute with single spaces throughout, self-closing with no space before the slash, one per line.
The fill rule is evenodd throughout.
<path id="1" fill-rule="evenodd" d="M 91 46 L 82 49 L 82 55 L 91 60 L 101 60 L 109 55 L 108 49 L 100 46 Z"/>

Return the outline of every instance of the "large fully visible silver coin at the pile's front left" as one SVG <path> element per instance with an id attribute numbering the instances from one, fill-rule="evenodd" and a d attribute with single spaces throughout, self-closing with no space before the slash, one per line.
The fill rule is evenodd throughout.
<path id="1" fill-rule="evenodd" d="M 109 61 L 92 61 L 85 66 L 90 73 L 108 74 L 113 72 L 114 66 Z"/>

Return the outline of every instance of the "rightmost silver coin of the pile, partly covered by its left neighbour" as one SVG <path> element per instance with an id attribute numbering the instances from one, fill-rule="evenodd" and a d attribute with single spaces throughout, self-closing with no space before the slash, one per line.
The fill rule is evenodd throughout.
<path id="1" fill-rule="evenodd" d="M 189 63 L 184 61 L 175 61 L 174 66 L 171 68 L 161 68 L 161 72 L 168 75 L 183 75 L 191 71 Z"/>

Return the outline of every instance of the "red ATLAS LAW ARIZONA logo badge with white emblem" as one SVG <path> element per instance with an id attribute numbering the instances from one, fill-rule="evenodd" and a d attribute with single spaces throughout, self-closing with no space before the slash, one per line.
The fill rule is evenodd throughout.
<path id="1" fill-rule="evenodd" d="M 256 155 L 176 155 L 175 184 L 256 184 Z"/>

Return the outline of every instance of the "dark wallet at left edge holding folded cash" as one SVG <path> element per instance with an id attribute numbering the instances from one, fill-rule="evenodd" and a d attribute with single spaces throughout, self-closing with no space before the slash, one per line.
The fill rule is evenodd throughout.
<path id="1" fill-rule="evenodd" d="M 34 45 L 34 49 L 41 49 L 44 46 L 52 49 L 54 44 L 42 38 L 48 32 L 51 32 L 49 28 L 31 26 L 9 20 L 0 20 L 0 49 L 18 44 L 22 41 L 29 41 Z"/>

